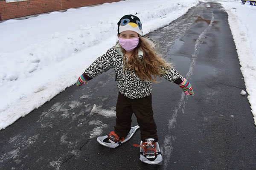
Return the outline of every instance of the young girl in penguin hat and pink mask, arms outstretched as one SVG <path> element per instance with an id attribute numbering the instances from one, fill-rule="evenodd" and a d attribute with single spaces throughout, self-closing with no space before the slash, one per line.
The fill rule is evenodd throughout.
<path id="1" fill-rule="evenodd" d="M 76 84 L 85 84 L 113 68 L 119 94 L 116 103 L 116 126 L 108 135 L 109 141 L 122 141 L 128 135 L 131 116 L 134 113 L 140 126 L 143 147 L 146 148 L 145 157 L 154 158 L 158 137 L 151 101 L 152 82 L 157 82 L 157 77 L 164 77 L 170 82 L 175 82 L 190 96 L 194 95 L 193 89 L 170 64 L 157 56 L 153 50 L 155 42 L 143 36 L 142 24 L 138 17 L 125 15 L 117 25 L 119 41 L 86 68 Z"/>

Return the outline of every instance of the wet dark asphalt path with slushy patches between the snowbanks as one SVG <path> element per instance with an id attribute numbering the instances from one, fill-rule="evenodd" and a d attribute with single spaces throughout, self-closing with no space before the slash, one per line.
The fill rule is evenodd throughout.
<path id="1" fill-rule="evenodd" d="M 220 4 L 200 3 L 148 36 L 195 92 L 184 96 L 165 79 L 153 86 L 161 165 L 139 160 L 139 148 L 132 146 L 140 142 L 139 131 L 116 149 L 96 142 L 99 132 L 105 135 L 115 125 L 118 92 L 108 71 L 0 130 L 0 169 L 255 170 L 255 125 L 250 104 L 240 95 L 244 81 Z"/>

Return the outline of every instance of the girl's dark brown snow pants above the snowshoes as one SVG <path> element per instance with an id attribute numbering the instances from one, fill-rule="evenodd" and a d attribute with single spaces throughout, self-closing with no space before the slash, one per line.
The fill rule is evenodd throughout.
<path id="1" fill-rule="evenodd" d="M 131 116 L 135 114 L 140 126 L 141 140 L 153 138 L 158 141 L 157 125 L 154 122 L 152 110 L 152 95 L 140 98 L 129 99 L 119 93 L 116 103 L 116 126 L 115 133 L 120 137 L 128 135 L 131 129 Z"/>

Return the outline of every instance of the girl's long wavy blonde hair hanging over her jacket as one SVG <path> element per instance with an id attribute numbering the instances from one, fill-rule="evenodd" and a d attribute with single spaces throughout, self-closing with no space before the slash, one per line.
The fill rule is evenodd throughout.
<path id="1" fill-rule="evenodd" d="M 124 73 L 131 68 L 134 73 L 142 80 L 146 82 L 159 82 L 157 77 L 161 79 L 161 74 L 169 71 L 171 64 L 167 63 L 163 58 L 158 57 L 152 47 L 152 42 L 149 42 L 145 37 L 140 36 L 139 44 L 126 62 L 125 55 L 124 61 Z M 143 51 L 143 58 L 138 58 L 138 49 Z M 123 49 L 125 54 L 125 50 Z M 132 74 L 132 73 L 131 73 Z"/>

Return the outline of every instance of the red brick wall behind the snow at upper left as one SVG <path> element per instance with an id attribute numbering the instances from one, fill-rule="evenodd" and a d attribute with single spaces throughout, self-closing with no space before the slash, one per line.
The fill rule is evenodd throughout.
<path id="1" fill-rule="evenodd" d="M 13 3 L 0 0 L 0 20 L 116 1 L 120 0 L 27 0 Z"/>

